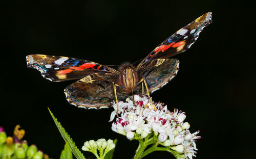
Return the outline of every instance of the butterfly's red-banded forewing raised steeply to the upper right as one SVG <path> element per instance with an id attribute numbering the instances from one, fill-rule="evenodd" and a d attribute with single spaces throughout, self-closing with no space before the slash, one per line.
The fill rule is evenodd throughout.
<path id="1" fill-rule="evenodd" d="M 150 64 L 155 59 L 166 59 L 176 54 L 184 52 L 199 37 L 200 32 L 205 26 L 211 23 L 211 12 L 205 13 L 196 20 L 190 22 L 178 32 L 173 34 L 158 45 L 147 57 L 137 66 L 137 70 Z"/>

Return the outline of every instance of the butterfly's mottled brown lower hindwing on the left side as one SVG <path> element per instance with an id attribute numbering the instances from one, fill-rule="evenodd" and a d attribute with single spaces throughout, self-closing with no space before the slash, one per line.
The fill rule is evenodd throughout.
<path id="1" fill-rule="evenodd" d="M 112 82 L 117 76 L 113 73 L 87 75 L 65 88 L 67 100 L 70 104 L 85 109 L 109 108 L 110 102 L 114 99 Z M 126 94 L 118 92 L 117 96 L 122 100 Z"/>

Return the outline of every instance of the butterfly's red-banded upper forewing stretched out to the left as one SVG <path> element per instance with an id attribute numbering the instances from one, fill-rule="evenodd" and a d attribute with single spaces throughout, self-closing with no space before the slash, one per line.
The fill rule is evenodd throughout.
<path id="1" fill-rule="evenodd" d="M 29 55 L 26 58 L 27 67 L 37 69 L 44 78 L 53 82 L 76 80 L 93 73 L 119 74 L 113 68 L 86 60 L 49 55 Z"/>

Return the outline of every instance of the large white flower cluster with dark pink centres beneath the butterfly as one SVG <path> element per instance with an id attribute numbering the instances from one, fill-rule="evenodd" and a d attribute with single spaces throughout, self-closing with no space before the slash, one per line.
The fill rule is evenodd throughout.
<path id="1" fill-rule="evenodd" d="M 191 134 L 188 130 L 188 122 L 183 123 L 186 115 L 184 112 L 174 112 L 167 110 L 167 106 L 157 102 L 152 105 L 150 99 L 145 95 L 135 95 L 135 104 L 132 98 L 127 98 L 126 102 L 118 102 L 118 114 L 116 122 L 112 124 L 112 130 L 122 134 L 129 140 L 139 136 L 140 139 L 146 138 L 154 133 L 161 145 L 184 153 L 185 158 L 196 156 L 196 139 L 199 131 Z M 113 102 L 115 111 L 111 114 L 112 121 L 116 114 L 116 103 Z M 156 110 L 154 109 L 156 108 Z"/>

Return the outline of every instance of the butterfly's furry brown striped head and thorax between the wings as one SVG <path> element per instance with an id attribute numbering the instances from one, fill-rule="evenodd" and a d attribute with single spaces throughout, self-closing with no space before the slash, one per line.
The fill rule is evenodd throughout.
<path id="1" fill-rule="evenodd" d="M 136 84 L 139 82 L 139 77 L 133 65 L 126 63 L 119 67 L 121 74 L 119 75 L 117 84 L 122 86 L 127 93 L 132 92 Z"/>

